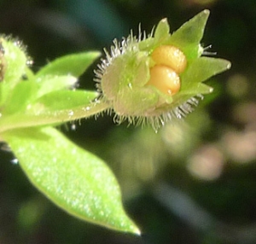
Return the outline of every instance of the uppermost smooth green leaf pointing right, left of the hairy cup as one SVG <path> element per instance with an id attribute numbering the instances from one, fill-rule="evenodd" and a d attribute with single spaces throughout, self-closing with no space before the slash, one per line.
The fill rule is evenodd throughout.
<path id="1" fill-rule="evenodd" d="M 79 77 L 99 55 L 99 52 L 65 55 L 49 62 L 36 76 L 37 78 L 44 75 L 72 75 Z"/>

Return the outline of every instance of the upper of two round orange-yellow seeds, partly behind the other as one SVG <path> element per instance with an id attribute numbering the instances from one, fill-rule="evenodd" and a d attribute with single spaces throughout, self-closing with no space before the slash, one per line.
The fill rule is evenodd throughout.
<path id="1" fill-rule="evenodd" d="M 156 65 L 166 65 L 176 73 L 182 73 L 187 66 L 187 59 L 183 52 L 171 45 L 159 46 L 154 49 L 151 57 Z"/>

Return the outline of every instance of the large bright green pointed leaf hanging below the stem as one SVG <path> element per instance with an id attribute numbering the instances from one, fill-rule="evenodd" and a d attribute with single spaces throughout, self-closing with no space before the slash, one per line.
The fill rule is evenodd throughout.
<path id="1" fill-rule="evenodd" d="M 108 166 L 51 127 L 3 133 L 30 181 L 77 218 L 140 234 L 127 217 L 119 184 Z"/>

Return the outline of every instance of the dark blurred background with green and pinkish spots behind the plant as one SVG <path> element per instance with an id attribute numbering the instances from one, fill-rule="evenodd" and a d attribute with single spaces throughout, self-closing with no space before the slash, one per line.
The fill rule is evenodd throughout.
<path id="1" fill-rule="evenodd" d="M 60 55 L 102 50 L 113 38 L 150 32 L 166 17 L 172 31 L 210 9 L 204 47 L 232 62 L 186 119 L 151 128 L 113 125 L 108 115 L 61 127 L 108 162 L 141 237 L 84 223 L 28 182 L 15 156 L 0 150 L 1 244 L 256 243 L 256 1 L 0 1 L 0 32 L 19 37 L 34 71 Z M 80 87 L 95 89 L 93 69 Z M 53 145 L 54 146 L 54 145 Z"/>

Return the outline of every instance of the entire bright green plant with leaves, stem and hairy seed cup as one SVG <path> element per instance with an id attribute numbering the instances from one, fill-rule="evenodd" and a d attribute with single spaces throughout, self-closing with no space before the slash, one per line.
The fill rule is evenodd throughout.
<path id="1" fill-rule="evenodd" d="M 212 91 L 202 82 L 230 68 L 229 61 L 201 56 L 208 15 L 202 11 L 172 35 L 161 20 L 148 37 L 114 41 L 96 71 L 98 92 L 75 89 L 98 52 L 66 55 L 32 73 L 22 44 L 1 38 L 0 140 L 44 195 L 78 218 L 140 233 L 125 214 L 108 166 L 55 125 L 108 111 L 119 123 L 128 119 L 158 130 L 173 116 L 191 112 L 196 97 Z"/>

